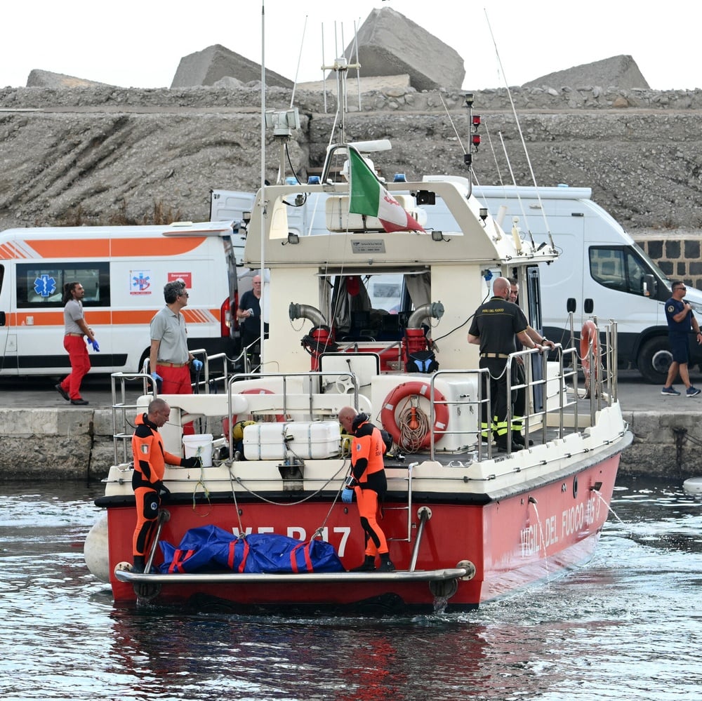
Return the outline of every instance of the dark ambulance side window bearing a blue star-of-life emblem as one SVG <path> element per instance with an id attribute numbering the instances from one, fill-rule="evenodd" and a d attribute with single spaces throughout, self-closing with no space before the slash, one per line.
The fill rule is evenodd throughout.
<path id="1" fill-rule="evenodd" d="M 110 264 L 107 262 L 88 262 L 80 265 L 18 263 L 18 309 L 63 307 L 63 286 L 73 281 L 79 281 L 85 288 L 84 307 L 109 307 L 109 270 Z"/>

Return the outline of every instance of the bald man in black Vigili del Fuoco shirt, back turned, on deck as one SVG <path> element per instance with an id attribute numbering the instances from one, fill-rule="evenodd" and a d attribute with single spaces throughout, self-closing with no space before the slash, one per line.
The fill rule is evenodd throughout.
<path id="1" fill-rule="evenodd" d="M 473 316 L 468 342 L 480 346 L 480 368 L 487 368 L 490 372 L 490 417 L 485 404 L 481 406 L 481 432 L 484 439 L 489 439 L 490 433 L 494 434 L 498 451 L 505 453 L 507 450 L 507 423 L 508 396 L 507 396 L 507 359 L 510 353 L 517 349 L 515 336 L 527 348 L 541 346 L 529 338 L 527 333 L 527 317 L 522 309 L 513 302 L 508 301 L 510 296 L 510 281 L 498 277 L 492 286 L 493 296 L 480 305 Z M 486 380 L 483 379 L 486 383 Z M 485 384 L 482 396 L 487 395 Z M 511 401 L 511 400 L 509 400 Z M 524 443 L 515 443 L 512 450 L 522 450 Z"/>

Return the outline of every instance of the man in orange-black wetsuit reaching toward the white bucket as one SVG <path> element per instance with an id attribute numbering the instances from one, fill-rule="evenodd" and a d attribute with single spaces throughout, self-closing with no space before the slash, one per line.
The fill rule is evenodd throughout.
<path id="1" fill-rule="evenodd" d="M 136 430 L 132 436 L 132 488 L 137 514 L 132 541 L 135 572 L 144 571 L 147 548 L 159 516 L 159 507 L 161 501 L 168 496 L 168 488 L 163 483 L 166 463 L 180 467 L 199 465 L 198 458 L 180 458 L 179 455 L 164 450 L 159 428 L 168 421 L 169 415 L 171 407 L 164 399 L 152 400 L 147 413 L 136 418 Z"/>

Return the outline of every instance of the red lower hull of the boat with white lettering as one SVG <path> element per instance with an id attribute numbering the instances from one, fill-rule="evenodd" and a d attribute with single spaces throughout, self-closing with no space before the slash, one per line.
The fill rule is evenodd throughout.
<path id="1" fill-rule="evenodd" d="M 607 520 L 619 455 L 585 467 L 576 474 L 539 483 L 527 490 L 496 495 L 479 504 L 470 495 L 437 498 L 415 493 L 412 525 L 409 528 L 406 503 L 386 502 L 382 527 L 390 540 L 390 556 L 397 570 L 409 568 L 415 547 L 420 507 L 428 507 L 416 557 L 415 570 L 456 568 L 470 561 L 475 576 L 450 582 L 389 582 L 372 578 L 352 585 L 344 582 L 305 582 L 304 586 L 256 582 L 197 586 L 178 581 L 173 574 L 167 584 L 150 592 L 152 603 L 218 601 L 241 610 L 276 608 L 316 609 L 366 606 L 381 609 L 434 610 L 437 600 L 449 597 L 447 610 L 475 608 L 484 601 L 504 596 L 533 582 L 545 580 L 587 561 L 595 549 Z M 239 515 L 237 515 L 237 507 Z M 164 523 L 161 540 L 178 545 L 184 533 L 197 526 L 214 524 L 230 532 L 280 533 L 307 540 L 322 527 L 324 540 L 336 548 L 345 567 L 363 559 L 363 533 L 355 504 L 328 500 L 282 507 L 257 500 L 234 500 L 167 505 L 171 519 Z M 138 599 L 139 585 L 121 582 L 114 568 L 131 562 L 131 541 L 135 524 L 133 507 L 108 507 L 110 577 L 116 602 Z M 154 564 L 161 561 L 157 552 Z M 453 582 L 456 582 L 454 584 Z M 457 585 L 457 586 L 456 586 Z M 455 589 L 455 592 L 453 591 Z M 135 591 L 136 590 L 136 591 Z"/>

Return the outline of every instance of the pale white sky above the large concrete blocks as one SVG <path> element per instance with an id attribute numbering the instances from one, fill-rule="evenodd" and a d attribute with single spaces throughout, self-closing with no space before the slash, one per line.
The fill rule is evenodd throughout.
<path id="1" fill-rule="evenodd" d="M 125 88 L 170 87 L 180 59 L 213 44 L 291 80 L 317 81 L 371 10 L 386 6 L 461 55 L 467 91 L 621 54 L 633 57 L 651 88 L 702 88 L 698 45 L 684 30 L 701 26 L 702 4 L 689 0 L 648 10 L 622 0 L 8 2 L 0 88 L 25 86 L 32 69 Z"/>

